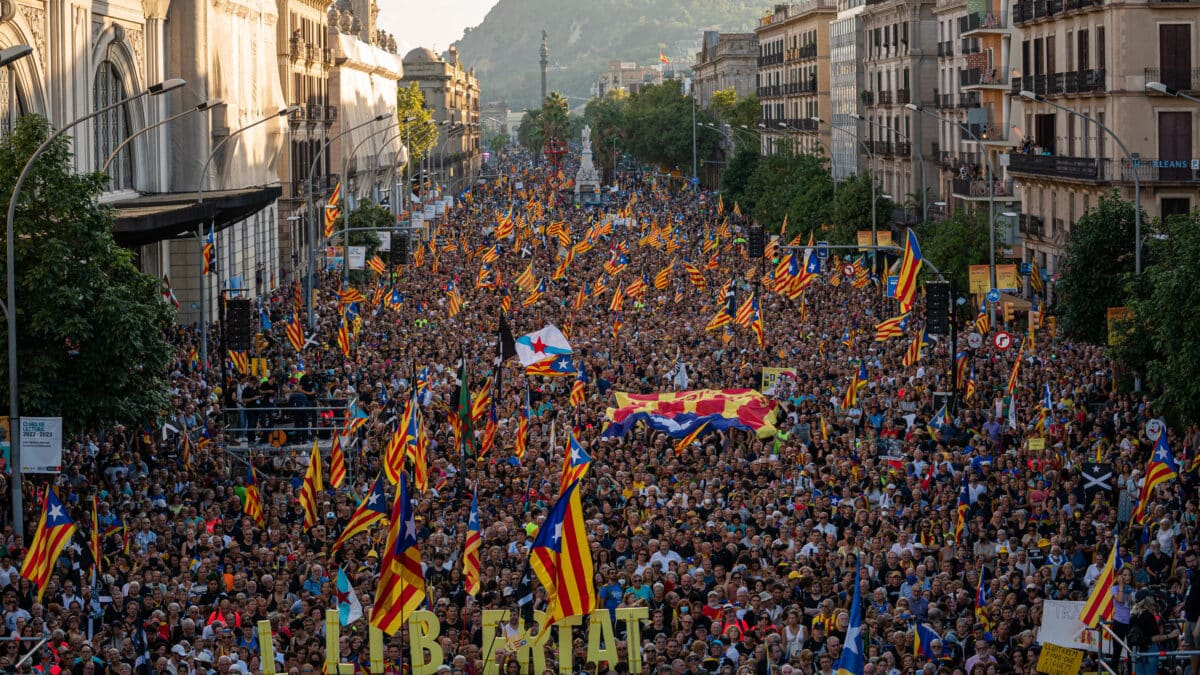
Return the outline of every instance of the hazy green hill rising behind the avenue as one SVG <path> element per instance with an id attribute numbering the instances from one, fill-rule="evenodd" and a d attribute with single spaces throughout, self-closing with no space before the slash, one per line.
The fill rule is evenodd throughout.
<path id="1" fill-rule="evenodd" d="M 462 62 L 475 67 L 482 100 L 504 97 L 516 110 L 536 104 L 540 95 L 542 29 L 550 34 L 550 89 L 587 97 L 610 60 L 647 65 L 665 52 L 672 66 L 688 70 L 701 31 L 750 30 L 770 6 L 762 0 L 499 0 L 455 47 Z M 691 47 L 683 49 L 688 42 Z"/>

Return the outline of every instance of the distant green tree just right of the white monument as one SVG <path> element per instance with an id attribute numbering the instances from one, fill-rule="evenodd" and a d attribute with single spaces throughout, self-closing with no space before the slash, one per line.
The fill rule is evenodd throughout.
<path id="1" fill-rule="evenodd" d="M 640 161 L 665 169 L 691 173 L 692 98 L 683 95 L 679 80 L 670 79 L 642 89 L 625 108 L 629 151 Z M 719 133 L 703 126 L 715 123 L 709 110 L 695 110 L 695 157 L 708 157 L 716 149 Z"/>

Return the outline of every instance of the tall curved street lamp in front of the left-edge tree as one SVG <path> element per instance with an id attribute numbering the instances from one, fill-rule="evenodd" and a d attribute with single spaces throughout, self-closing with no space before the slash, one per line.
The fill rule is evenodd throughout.
<path id="1" fill-rule="evenodd" d="M 17 47 L 10 47 L 0 52 L 0 66 L 7 66 L 17 59 L 29 55 L 32 49 L 25 44 Z M 29 178 L 29 172 L 34 168 L 34 162 L 37 157 L 50 147 L 59 137 L 61 137 L 67 131 L 71 131 L 82 123 L 90 119 L 97 118 L 114 108 L 125 106 L 126 103 L 134 103 L 140 101 L 146 96 L 157 96 L 160 94 L 166 94 L 168 91 L 174 91 L 180 86 L 187 84 L 185 80 L 179 78 L 166 79 L 158 84 L 152 84 L 144 91 L 134 94 L 127 98 L 122 98 L 115 103 L 110 103 L 92 110 L 82 118 L 76 118 L 64 125 L 61 129 L 52 132 L 42 141 L 34 154 L 29 156 L 25 161 L 25 166 L 22 167 L 20 174 L 17 177 L 17 184 L 12 187 L 12 195 L 8 197 L 8 220 L 6 223 L 7 241 L 5 243 L 5 275 L 7 276 L 7 295 L 5 299 L 5 313 L 8 319 L 8 424 L 10 424 L 10 466 L 14 467 L 12 471 L 12 519 L 13 519 L 13 531 L 17 537 L 25 536 L 25 522 L 24 515 L 22 513 L 24 504 L 22 503 L 22 486 L 20 486 L 20 406 L 17 401 L 17 263 L 13 259 L 13 222 L 17 219 L 17 199 L 20 197 L 20 189 L 25 185 L 25 179 Z"/>

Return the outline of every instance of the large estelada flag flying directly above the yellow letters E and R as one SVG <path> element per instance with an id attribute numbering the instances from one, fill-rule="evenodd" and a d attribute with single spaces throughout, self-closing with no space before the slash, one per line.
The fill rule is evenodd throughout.
<path id="1" fill-rule="evenodd" d="M 546 626 L 595 609 L 592 550 L 577 482 L 566 486 L 538 528 L 529 567 L 546 589 Z"/>

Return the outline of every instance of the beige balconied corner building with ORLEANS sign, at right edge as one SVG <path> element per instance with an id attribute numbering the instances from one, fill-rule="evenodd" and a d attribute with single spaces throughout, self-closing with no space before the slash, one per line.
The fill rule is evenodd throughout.
<path id="1" fill-rule="evenodd" d="M 1200 114 L 1190 101 L 1148 92 L 1146 84 L 1200 90 L 1200 13 L 1172 0 L 1019 0 L 1020 30 L 1009 130 L 1008 172 L 1022 196 L 1026 259 L 1055 273 L 1076 217 L 1117 189 L 1151 217 L 1200 205 Z M 1049 102 L 1025 101 L 1022 90 Z M 1097 124 L 1108 126 L 1127 156 Z M 1115 243 L 1115 245 L 1121 245 Z"/>

